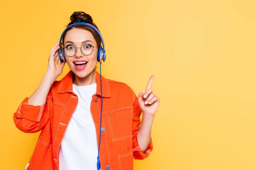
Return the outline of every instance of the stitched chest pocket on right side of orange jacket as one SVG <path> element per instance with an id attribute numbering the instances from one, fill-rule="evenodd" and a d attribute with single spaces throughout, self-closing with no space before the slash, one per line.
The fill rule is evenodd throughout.
<path id="1" fill-rule="evenodd" d="M 132 109 L 130 107 L 116 109 L 106 113 L 113 141 L 132 137 Z"/>

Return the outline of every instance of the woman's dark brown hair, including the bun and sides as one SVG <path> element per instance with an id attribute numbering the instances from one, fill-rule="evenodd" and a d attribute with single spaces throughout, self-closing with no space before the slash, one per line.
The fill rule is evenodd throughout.
<path id="1" fill-rule="evenodd" d="M 96 26 L 96 24 L 93 23 L 93 18 L 89 14 L 86 14 L 85 12 L 82 12 L 82 11 L 74 12 L 70 17 L 70 20 L 71 21 L 67 25 L 67 27 L 73 23 L 84 22 L 84 23 L 89 23 L 89 24 L 95 26 L 99 30 L 99 28 Z M 101 45 L 101 39 L 99 37 L 99 34 L 90 26 L 85 26 L 85 25 L 75 25 L 75 26 L 71 26 L 70 28 L 67 28 L 67 30 L 63 33 L 63 39 L 62 39 L 63 44 L 64 44 L 64 38 L 65 38 L 67 31 L 72 28 L 81 28 L 81 29 L 86 29 L 86 30 L 90 31 L 93 34 L 94 39 L 96 40 L 98 48 Z"/>

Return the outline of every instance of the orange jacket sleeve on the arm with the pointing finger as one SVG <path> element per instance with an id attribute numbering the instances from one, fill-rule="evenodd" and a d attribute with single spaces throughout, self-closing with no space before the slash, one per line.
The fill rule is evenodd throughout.
<path id="1" fill-rule="evenodd" d="M 134 91 L 133 91 L 134 94 Z M 137 133 L 140 128 L 140 115 L 142 111 L 140 109 L 140 105 L 138 103 L 138 97 L 134 94 L 134 108 L 133 108 L 133 121 L 132 121 L 132 136 L 133 136 L 133 156 L 134 159 L 145 159 L 147 158 L 151 151 L 153 150 L 152 139 L 148 145 L 148 148 L 145 152 L 140 150 L 138 140 L 137 140 Z"/>

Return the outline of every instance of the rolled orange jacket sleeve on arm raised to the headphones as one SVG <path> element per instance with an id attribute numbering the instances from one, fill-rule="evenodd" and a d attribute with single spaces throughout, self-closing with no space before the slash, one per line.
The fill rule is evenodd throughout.
<path id="1" fill-rule="evenodd" d="M 44 105 L 29 105 L 28 97 L 17 108 L 13 115 L 15 126 L 25 133 L 40 131 L 49 121 L 49 112 L 52 111 L 52 95 L 49 94 Z"/>

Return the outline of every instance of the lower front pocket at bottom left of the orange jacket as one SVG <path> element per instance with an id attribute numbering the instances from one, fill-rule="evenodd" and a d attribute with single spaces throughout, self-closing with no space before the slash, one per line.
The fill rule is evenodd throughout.
<path id="1" fill-rule="evenodd" d="M 27 170 L 52 170 L 53 168 L 51 167 L 54 167 L 52 140 L 39 136 Z"/>

